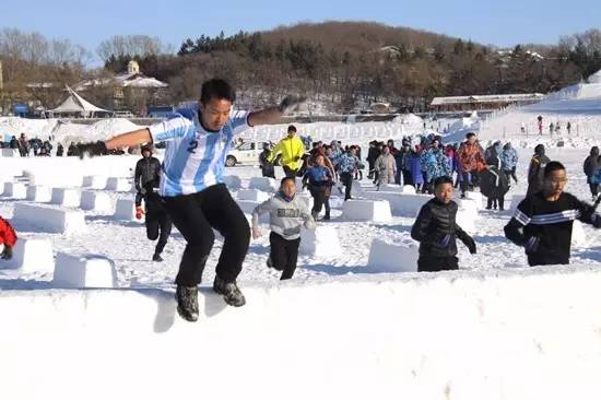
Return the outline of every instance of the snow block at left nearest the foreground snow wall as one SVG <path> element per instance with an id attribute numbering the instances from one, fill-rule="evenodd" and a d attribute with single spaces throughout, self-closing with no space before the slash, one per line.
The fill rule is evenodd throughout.
<path id="1" fill-rule="evenodd" d="M 57 255 L 55 287 L 117 287 L 115 263 L 101 256 L 71 256 L 64 252 Z"/>

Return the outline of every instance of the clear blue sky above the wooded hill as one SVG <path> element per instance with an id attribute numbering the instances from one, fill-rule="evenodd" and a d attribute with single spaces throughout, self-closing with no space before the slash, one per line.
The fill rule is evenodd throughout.
<path id="1" fill-rule="evenodd" d="M 326 20 L 375 21 L 482 44 L 555 44 L 562 35 L 601 28 L 600 0 L 32 0 L 2 7 L 0 27 L 69 38 L 97 58 L 113 35 L 145 34 L 179 47 L 187 37 L 264 31 Z"/>

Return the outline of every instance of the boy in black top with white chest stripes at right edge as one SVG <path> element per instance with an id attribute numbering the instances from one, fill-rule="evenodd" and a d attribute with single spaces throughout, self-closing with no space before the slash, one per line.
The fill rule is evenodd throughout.
<path id="1" fill-rule="evenodd" d="M 574 220 L 601 227 L 594 207 L 564 192 L 566 183 L 562 163 L 546 164 L 542 191 L 526 197 L 505 226 L 505 236 L 525 247 L 530 266 L 569 263 Z"/>

